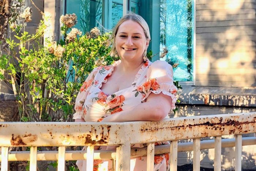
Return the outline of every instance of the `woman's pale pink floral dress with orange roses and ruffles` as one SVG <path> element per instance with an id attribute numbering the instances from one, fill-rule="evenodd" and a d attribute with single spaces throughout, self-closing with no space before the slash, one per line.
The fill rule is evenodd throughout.
<path id="1" fill-rule="evenodd" d="M 114 72 L 113 65 L 99 66 L 95 68 L 84 81 L 80 92 L 76 97 L 73 119 L 83 118 L 86 122 L 100 122 L 110 114 L 114 114 L 140 103 L 146 102 L 148 95 L 163 93 L 170 96 L 172 109 L 175 109 L 177 88 L 173 85 L 173 69 L 165 61 L 146 61 L 135 76 L 131 87 L 117 91 L 113 94 L 105 94 L 101 91 L 103 83 Z M 169 118 L 168 115 L 166 118 Z M 155 145 L 169 144 L 169 142 L 156 142 Z M 143 144 L 132 145 L 132 148 L 145 147 Z M 113 146 L 101 146 L 100 149 L 113 150 Z M 166 171 L 169 169 L 169 154 L 155 155 L 154 171 Z M 86 160 L 78 160 L 79 170 L 86 170 Z M 111 160 L 94 160 L 94 171 L 111 171 Z M 146 171 L 147 156 L 132 157 L 130 161 L 131 171 Z"/>

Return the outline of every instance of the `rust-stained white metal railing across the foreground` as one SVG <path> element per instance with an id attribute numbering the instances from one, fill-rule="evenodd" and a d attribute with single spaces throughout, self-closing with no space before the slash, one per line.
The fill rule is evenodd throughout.
<path id="1" fill-rule="evenodd" d="M 215 149 L 214 170 L 221 170 L 221 148 L 235 147 L 236 171 L 241 170 L 242 145 L 256 144 L 256 112 L 165 119 L 159 122 L 1 122 L 1 171 L 8 161 L 30 161 L 36 171 L 37 160 L 58 160 L 64 170 L 65 160 L 87 160 L 87 171 L 93 171 L 93 159 L 112 159 L 113 170 L 129 171 L 131 156 L 147 156 L 147 171 L 153 171 L 154 154 L 170 153 L 170 170 L 177 170 L 177 152 L 193 151 L 193 170 L 200 170 L 200 149 Z M 221 139 L 235 134 L 235 139 Z M 200 138 L 215 137 L 215 140 Z M 178 143 L 178 140 L 193 142 Z M 170 141 L 170 145 L 154 147 L 154 142 Z M 147 143 L 147 148 L 131 151 L 131 144 Z M 95 145 L 116 145 L 116 151 L 95 151 Z M 57 146 L 59 151 L 37 151 L 37 147 Z M 65 151 L 67 146 L 87 146 L 84 151 Z M 8 147 L 31 147 L 30 152 L 8 152 Z M 122 166 L 122 167 L 120 167 Z"/>

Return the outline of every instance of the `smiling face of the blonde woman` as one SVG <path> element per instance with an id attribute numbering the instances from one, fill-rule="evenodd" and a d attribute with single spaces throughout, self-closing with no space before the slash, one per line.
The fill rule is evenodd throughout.
<path id="1" fill-rule="evenodd" d="M 143 52 L 148 46 L 148 41 L 139 23 L 126 20 L 120 24 L 115 42 L 116 51 L 121 59 L 143 60 Z"/>

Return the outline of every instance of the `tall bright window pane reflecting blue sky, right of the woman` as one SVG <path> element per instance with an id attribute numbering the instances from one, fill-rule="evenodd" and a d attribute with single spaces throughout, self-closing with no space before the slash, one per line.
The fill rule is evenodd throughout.
<path id="1" fill-rule="evenodd" d="M 193 0 L 161 0 L 160 50 L 169 53 L 162 58 L 173 66 L 174 80 L 193 81 Z"/>

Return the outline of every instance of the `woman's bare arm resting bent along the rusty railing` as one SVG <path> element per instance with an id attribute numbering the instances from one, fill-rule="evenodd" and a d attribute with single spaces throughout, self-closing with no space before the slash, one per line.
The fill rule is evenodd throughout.
<path id="1" fill-rule="evenodd" d="M 147 102 L 109 115 L 101 122 L 160 121 L 168 115 L 171 104 L 170 96 L 151 93 L 147 97 Z"/>

